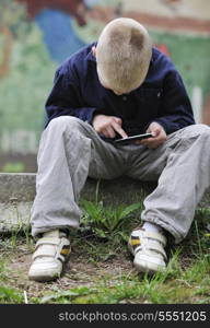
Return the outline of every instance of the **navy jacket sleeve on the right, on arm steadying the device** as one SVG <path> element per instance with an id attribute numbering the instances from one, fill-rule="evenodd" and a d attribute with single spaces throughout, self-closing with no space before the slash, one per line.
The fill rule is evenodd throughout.
<path id="1" fill-rule="evenodd" d="M 173 69 L 165 77 L 159 122 L 167 134 L 195 124 L 189 97 L 179 73 Z"/>

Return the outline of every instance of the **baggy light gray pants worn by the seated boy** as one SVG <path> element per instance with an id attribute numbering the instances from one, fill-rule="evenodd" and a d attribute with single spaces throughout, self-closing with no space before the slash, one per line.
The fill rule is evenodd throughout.
<path id="1" fill-rule="evenodd" d="M 88 176 L 113 179 L 121 175 L 159 180 L 144 200 L 141 219 L 161 225 L 180 242 L 210 186 L 210 127 L 189 126 L 149 150 L 105 142 L 92 126 L 74 117 L 52 119 L 39 145 L 33 236 L 56 227 L 79 226 L 78 200 Z"/>

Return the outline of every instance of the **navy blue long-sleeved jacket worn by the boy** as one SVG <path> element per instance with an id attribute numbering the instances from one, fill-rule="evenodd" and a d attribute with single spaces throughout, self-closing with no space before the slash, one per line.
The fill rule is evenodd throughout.
<path id="1" fill-rule="evenodd" d="M 95 114 L 120 117 L 128 136 L 144 132 L 152 121 L 162 125 L 167 134 L 195 124 L 183 80 L 167 56 L 153 48 L 143 84 L 119 96 L 100 83 L 93 45 L 72 55 L 57 70 L 46 102 L 46 126 L 61 115 L 92 124 Z"/>

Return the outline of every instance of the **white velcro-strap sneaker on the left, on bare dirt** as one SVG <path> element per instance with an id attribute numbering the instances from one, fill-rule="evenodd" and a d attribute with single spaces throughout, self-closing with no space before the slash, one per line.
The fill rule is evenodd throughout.
<path id="1" fill-rule="evenodd" d="M 70 242 L 65 233 L 59 230 L 44 233 L 36 243 L 28 278 L 36 281 L 59 278 L 69 254 Z"/>

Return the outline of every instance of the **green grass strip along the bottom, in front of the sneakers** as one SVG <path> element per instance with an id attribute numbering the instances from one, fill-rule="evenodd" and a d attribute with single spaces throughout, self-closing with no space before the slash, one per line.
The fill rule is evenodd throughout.
<path id="1" fill-rule="evenodd" d="M 172 262 L 177 261 L 176 255 Z M 202 265 L 203 270 L 199 270 Z M 178 270 L 177 270 L 178 269 Z M 180 274 L 182 271 L 182 274 Z M 195 276 L 195 273 L 199 273 Z M 165 273 L 139 277 L 137 273 L 105 276 L 92 288 L 79 286 L 69 291 L 49 293 L 42 298 L 34 298 L 37 303 L 74 303 L 74 304 L 115 304 L 115 303 L 209 303 L 209 262 L 195 262 L 187 274 L 180 267 L 172 268 Z M 197 277 L 197 278 L 196 278 Z M 199 277 L 199 278 L 198 278 Z M 203 285 L 200 282 L 206 277 Z M 196 278 L 196 279 L 195 279 Z"/>

